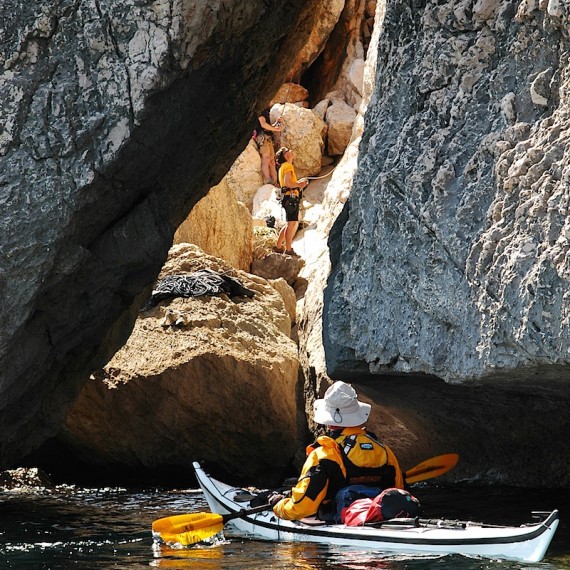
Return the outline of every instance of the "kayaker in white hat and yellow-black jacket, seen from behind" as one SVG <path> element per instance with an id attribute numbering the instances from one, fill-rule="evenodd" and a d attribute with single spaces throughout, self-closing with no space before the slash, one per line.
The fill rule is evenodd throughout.
<path id="1" fill-rule="evenodd" d="M 353 485 L 372 487 L 374 493 L 404 488 L 394 453 L 363 427 L 370 410 L 370 404 L 360 402 L 354 388 L 342 381 L 315 401 L 314 421 L 327 426 L 328 435 L 307 447 L 307 459 L 291 496 L 269 498 L 278 517 L 299 520 L 318 514 L 331 518 L 330 513 L 336 513 L 337 493 Z"/>

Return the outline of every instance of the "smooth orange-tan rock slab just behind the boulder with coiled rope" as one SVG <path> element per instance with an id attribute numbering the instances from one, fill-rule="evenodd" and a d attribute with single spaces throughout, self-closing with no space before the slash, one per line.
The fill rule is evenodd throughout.
<path id="1" fill-rule="evenodd" d="M 174 243 L 193 243 L 214 257 L 248 271 L 253 251 L 253 222 L 224 178 L 202 198 L 182 222 Z"/>

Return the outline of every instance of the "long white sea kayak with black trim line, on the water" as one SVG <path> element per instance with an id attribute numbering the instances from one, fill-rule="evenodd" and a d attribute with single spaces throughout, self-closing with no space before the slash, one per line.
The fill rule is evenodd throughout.
<path id="1" fill-rule="evenodd" d="M 250 509 L 243 489 L 210 477 L 194 463 L 198 483 L 212 513 L 235 515 Z M 286 521 L 271 510 L 232 517 L 240 534 L 255 539 L 317 542 L 367 551 L 410 554 L 462 554 L 493 559 L 539 562 L 558 527 L 558 511 L 535 513 L 538 522 L 521 526 L 488 525 L 446 519 L 392 519 L 350 527 L 317 521 Z"/>

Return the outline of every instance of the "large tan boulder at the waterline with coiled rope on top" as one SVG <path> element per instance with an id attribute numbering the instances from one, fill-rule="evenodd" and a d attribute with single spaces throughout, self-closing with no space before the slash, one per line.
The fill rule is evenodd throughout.
<path id="1" fill-rule="evenodd" d="M 278 484 L 296 445 L 297 347 L 267 281 L 174 246 L 161 273 L 229 271 L 253 298 L 175 298 L 141 313 L 128 343 L 83 388 L 59 439 L 87 464 L 190 469 Z"/>

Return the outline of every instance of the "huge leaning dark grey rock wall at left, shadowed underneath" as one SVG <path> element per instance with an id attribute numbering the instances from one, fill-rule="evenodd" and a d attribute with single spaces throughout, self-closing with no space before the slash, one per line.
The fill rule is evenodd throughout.
<path id="1" fill-rule="evenodd" d="M 126 340 L 317 4 L 2 3 L 0 468 L 56 432 Z"/>

